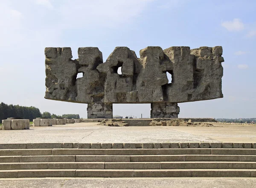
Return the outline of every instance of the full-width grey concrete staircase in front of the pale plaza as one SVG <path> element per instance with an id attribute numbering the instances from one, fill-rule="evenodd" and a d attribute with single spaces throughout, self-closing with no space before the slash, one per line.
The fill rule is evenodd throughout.
<path id="1" fill-rule="evenodd" d="M 0 178 L 24 177 L 256 177 L 256 145 L 0 144 Z"/>

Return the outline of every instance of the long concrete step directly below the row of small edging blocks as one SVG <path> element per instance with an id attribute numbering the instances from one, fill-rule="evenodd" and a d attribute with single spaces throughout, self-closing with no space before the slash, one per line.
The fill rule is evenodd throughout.
<path id="1" fill-rule="evenodd" d="M 101 147 L 100 145 L 97 145 Z M 134 145 L 135 147 L 135 145 Z M 46 155 L 255 155 L 256 149 L 161 148 L 161 149 L 11 149 L 0 150 L 0 156 Z"/>

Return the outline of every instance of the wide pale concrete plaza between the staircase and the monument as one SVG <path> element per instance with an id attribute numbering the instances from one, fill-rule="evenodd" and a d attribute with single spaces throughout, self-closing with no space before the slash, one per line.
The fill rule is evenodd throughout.
<path id="1" fill-rule="evenodd" d="M 213 127 L 106 127 L 98 123 L 1 130 L 0 143 L 256 142 L 256 126 L 212 123 Z"/>

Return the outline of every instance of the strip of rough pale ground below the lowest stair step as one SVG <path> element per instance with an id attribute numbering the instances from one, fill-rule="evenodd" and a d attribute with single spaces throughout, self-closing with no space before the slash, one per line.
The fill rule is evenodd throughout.
<path id="1" fill-rule="evenodd" d="M 254 188 L 256 178 L 10 179 L 1 188 Z"/>

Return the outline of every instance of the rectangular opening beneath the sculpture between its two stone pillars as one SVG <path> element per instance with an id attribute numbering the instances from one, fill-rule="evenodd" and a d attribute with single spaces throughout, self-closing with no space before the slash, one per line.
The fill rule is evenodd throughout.
<path id="1" fill-rule="evenodd" d="M 151 104 L 113 104 L 113 116 L 150 118 Z"/>

